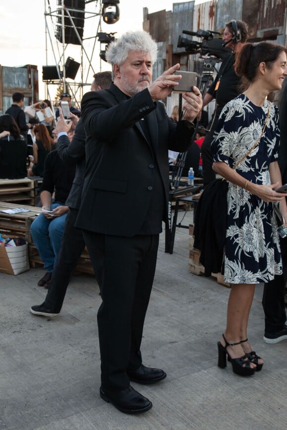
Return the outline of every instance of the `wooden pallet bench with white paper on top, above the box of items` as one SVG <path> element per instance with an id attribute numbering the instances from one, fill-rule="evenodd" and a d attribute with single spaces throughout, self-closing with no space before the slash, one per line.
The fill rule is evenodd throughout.
<path id="1" fill-rule="evenodd" d="M 35 217 L 41 213 L 41 208 L 0 202 L 0 211 L 14 208 L 29 209 L 29 212 L 20 212 L 19 214 L 14 215 L 0 212 L 0 233 L 9 237 L 23 237 L 28 244 L 32 243 L 30 226 Z"/>

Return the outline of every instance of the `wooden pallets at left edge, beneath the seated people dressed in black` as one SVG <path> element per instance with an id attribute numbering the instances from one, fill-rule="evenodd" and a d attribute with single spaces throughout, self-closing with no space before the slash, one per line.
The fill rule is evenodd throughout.
<path id="1" fill-rule="evenodd" d="M 0 179 L 0 201 L 33 205 L 35 202 L 34 181 L 23 179 Z"/>

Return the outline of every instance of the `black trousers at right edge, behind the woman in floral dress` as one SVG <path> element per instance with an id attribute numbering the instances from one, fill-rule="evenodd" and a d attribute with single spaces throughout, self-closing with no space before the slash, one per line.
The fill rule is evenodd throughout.
<path id="1" fill-rule="evenodd" d="M 265 313 L 265 332 L 276 333 L 286 323 L 285 286 L 287 281 L 287 238 L 280 239 L 283 274 L 264 284 L 262 305 Z"/>

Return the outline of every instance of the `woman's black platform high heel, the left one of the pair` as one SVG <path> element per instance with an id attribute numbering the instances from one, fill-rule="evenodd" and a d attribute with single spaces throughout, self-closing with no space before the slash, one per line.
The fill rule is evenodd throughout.
<path id="1" fill-rule="evenodd" d="M 251 376 L 254 375 L 254 370 L 252 367 L 250 367 L 250 361 L 247 357 L 247 355 L 243 355 L 239 358 L 232 358 L 229 353 L 227 352 L 226 348 L 228 346 L 234 346 L 239 345 L 241 342 L 230 344 L 225 339 L 225 336 L 222 335 L 225 346 L 223 346 L 220 342 L 217 343 L 218 346 L 218 366 L 221 369 L 224 369 L 226 367 L 226 357 L 228 357 L 228 361 L 232 364 L 232 370 L 234 373 L 240 376 Z"/>

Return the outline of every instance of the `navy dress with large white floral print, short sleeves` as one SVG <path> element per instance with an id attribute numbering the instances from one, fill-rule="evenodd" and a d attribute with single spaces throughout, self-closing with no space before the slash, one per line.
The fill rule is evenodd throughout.
<path id="1" fill-rule="evenodd" d="M 264 106 L 256 106 L 244 94 L 225 105 L 211 145 L 214 161 L 235 166 L 261 135 L 268 106 L 267 100 Z M 259 145 L 236 169 L 246 180 L 271 183 L 269 165 L 278 160 L 278 120 L 278 108 L 270 103 L 269 120 Z M 229 182 L 227 207 L 224 280 L 231 284 L 257 284 L 281 274 L 273 204 Z"/>

